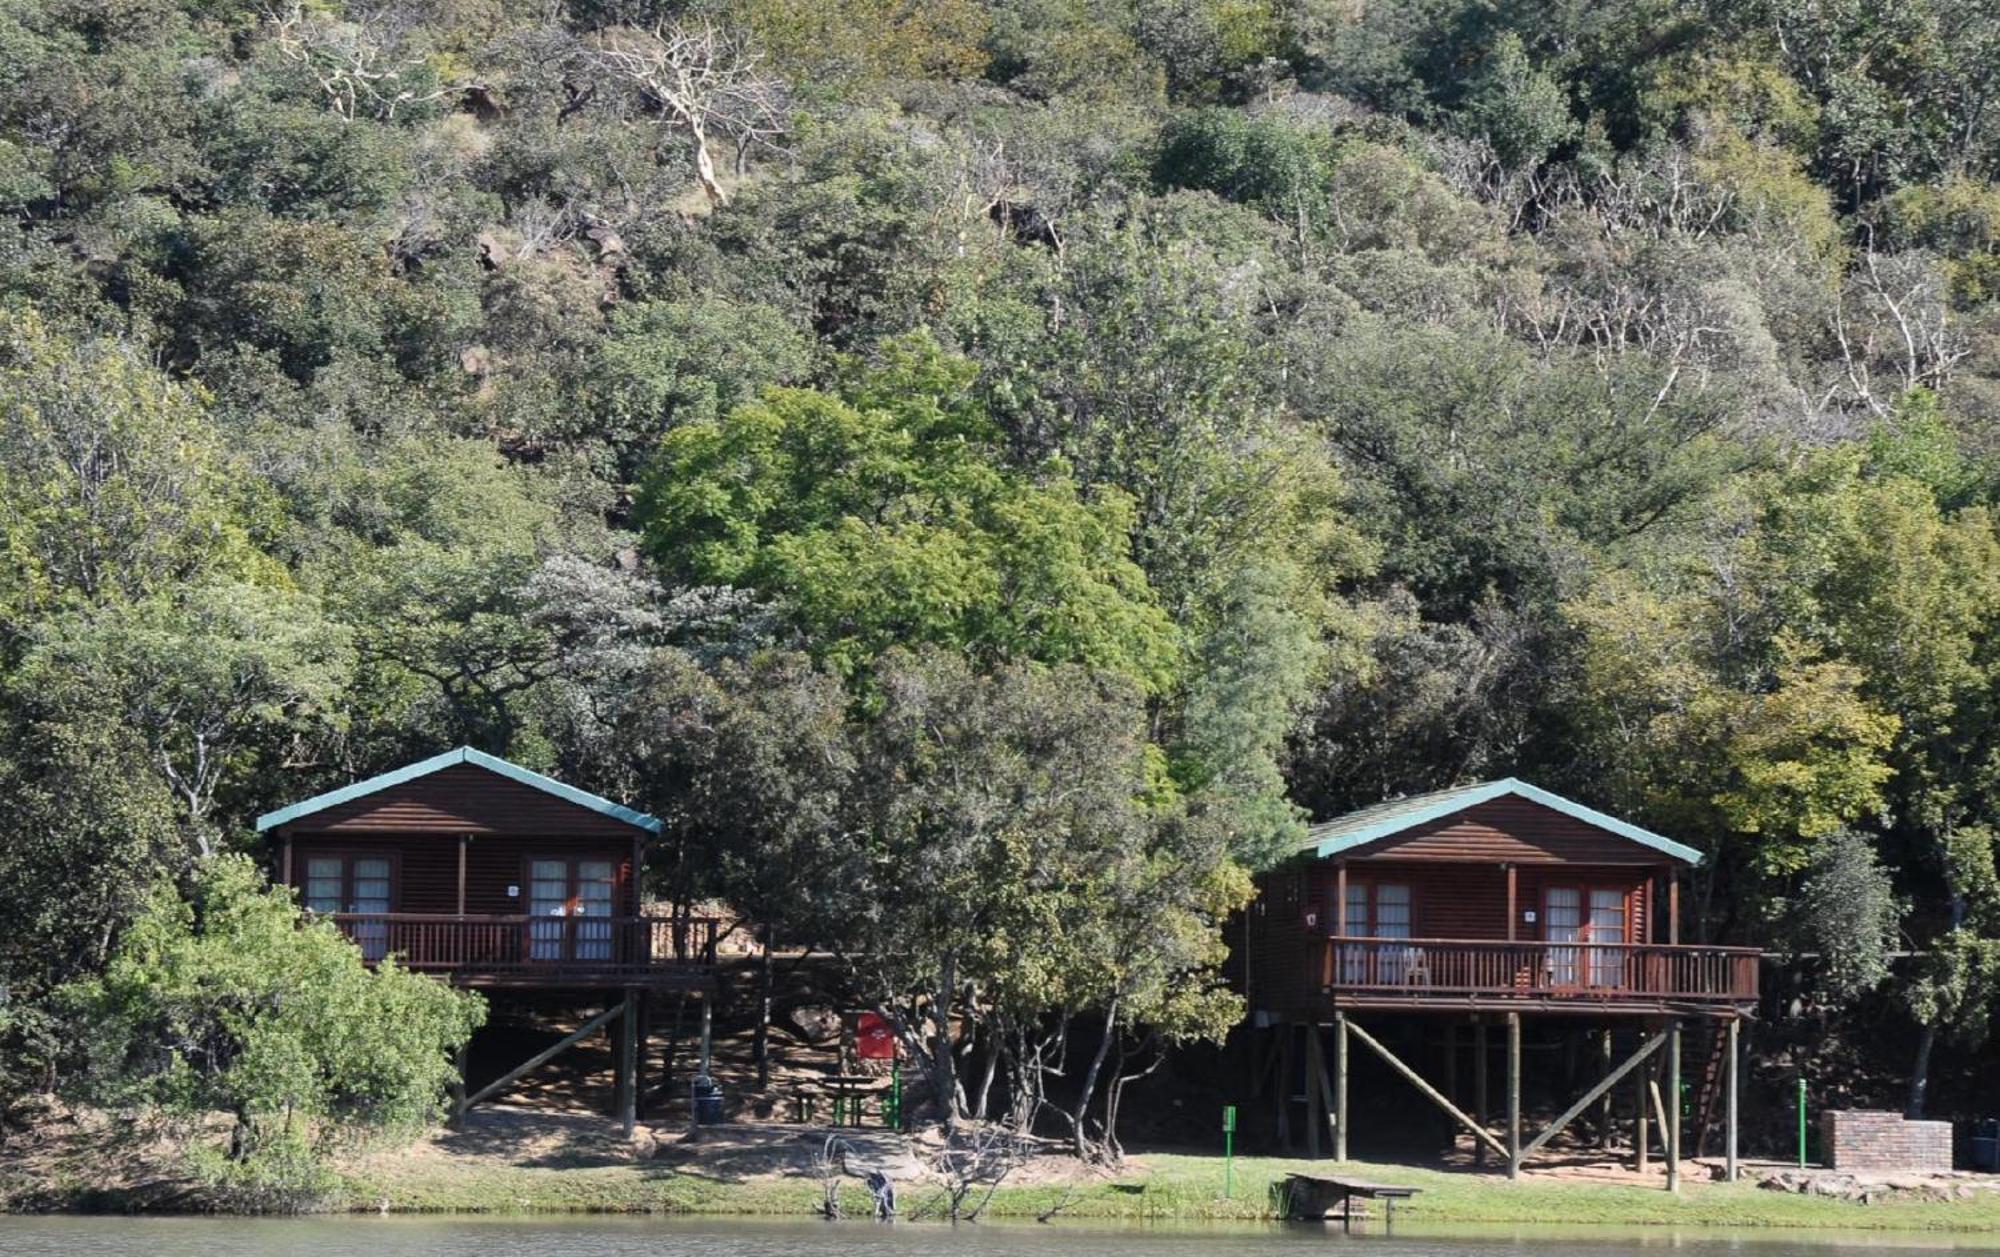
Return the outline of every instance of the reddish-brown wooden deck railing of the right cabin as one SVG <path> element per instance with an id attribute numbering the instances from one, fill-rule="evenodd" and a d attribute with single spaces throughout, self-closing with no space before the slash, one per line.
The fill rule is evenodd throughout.
<path id="1" fill-rule="evenodd" d="M 1756 983 L 1754 947 L 1336 937 L 1320 957 L 1334 995 L 1750 1003 Z"/>

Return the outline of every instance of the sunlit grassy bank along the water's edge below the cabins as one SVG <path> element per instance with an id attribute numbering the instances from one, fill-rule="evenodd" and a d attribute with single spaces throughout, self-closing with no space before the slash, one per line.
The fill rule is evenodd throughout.
<path id="1" fill-rule="evenodd" d="M 858 1137 L 862 1139 L 862 1137 Z M 904 1215 L 936 1209 L 938 1189 L 896 1141 L 886 1151 L 902 1191 Z M 482 1111 L 462 1131 L 442 1131 L 410 1147 L 346 1157 L 336 1185 L 320 1201 L 334 1211 L 414 1213 L 708 1213 L 808 1217 L 822 1199 L 812 1173 L 818 1137 L 790 1127 L 720 1127 L 700 1143 L 662 1131 L 662 1143 L 626 1145 L 602 1117 L 532 1111 Z M 114 1143 L 102 1127 L 48 1137 L 32 1155 L 20 1145 L 0 1155 L 0 1209 L 206 1209 L 198 1185 L 180 1179 L 180 1161 L 162 1145 Z M 1234 1191 L 1224 1197 L 1222 1159 L 1190 1153 L 1142 1153 L 1116 1173 L 1078 1171 L 1056 1157 L 1034 1161 L 998 1189 L 990 1217 L 1056 1215 L 1080 1221 L 1260 1221 L 1274 1213 L 1272 1185 L 1288 1173 L 1340 1173 L 1422 1189 L 1398 1219 L 1418 1225 L 1716 1225 L 1884 1231 L 2000 1231 L 2000 1191 L 1970 1199 L 1892 1193 L 1862 1205 L 1794 1195 L 1752 1183 L 1688 1181 L 1668 1195 L 1614 1167 L 1504 1175 L 1418 1169 L 1408 1165 L 1238 1157 Z M 1584 1177 L 1588 1175 L 1588 1177 Z M 868 1213 L 868 1197 L 846 1181 L 846 1207 Z"/>

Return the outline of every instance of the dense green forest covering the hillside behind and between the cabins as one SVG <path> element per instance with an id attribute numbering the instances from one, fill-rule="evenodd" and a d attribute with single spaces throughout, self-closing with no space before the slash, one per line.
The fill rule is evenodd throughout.
<path id="1" fill-rule="evenodd" d="M 190 957 L 318 947 L 256 813 L 464 743 L 962 1113 L 1106 1029 L 1086 1147 L 1308 817 L 1502 775 L 1922 1107 L 2000 1005 L 1996 94 L 1990 0 L 0 0 L 0 1093 L 422 1111 L 222 1077 Z"/>

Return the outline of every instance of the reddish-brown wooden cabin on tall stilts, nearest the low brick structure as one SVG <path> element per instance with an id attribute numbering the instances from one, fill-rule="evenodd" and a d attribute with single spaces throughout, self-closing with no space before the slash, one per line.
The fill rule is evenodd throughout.
<path id="1" fill-rule="evenodd" d="M 1368 1061 L 1510 1177 L 1588 1121 L 1600 1147 L 1630 1129 L 1640 1171 L 1658 1147 L 1668 1189 L 1720 1127 L 1734 1179 L 1758 951 L 1680 941 L 1680 873 L 1698 863 L 1692 847 L 1514 779 L 1312 827 L 1232 939 L 1250 1093 L 1278 1143 L 1346 1161 L 1350 1073 Z M 1526 1079 L 1524 1051 L 1546 1065 Z M 1538 1131 L 1528 1085 L 1552 1113 Z"/>

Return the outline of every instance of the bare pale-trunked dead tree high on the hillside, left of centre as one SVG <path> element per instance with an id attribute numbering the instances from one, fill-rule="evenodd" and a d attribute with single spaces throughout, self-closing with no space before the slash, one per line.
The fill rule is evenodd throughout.
<path id="1" fill-rule="evenodd" d="M 784 82 L 760 68 L 742 36 L 706 18 L 600 32 L 590 62 L 638 88 L 686 132 L 694 174 L 714 204 L 728 202 L 728 192 L 716 180 L 710 136 L 720 132 L 736 144 L 742 174 L 750 148 L 784 132 Z"/>

